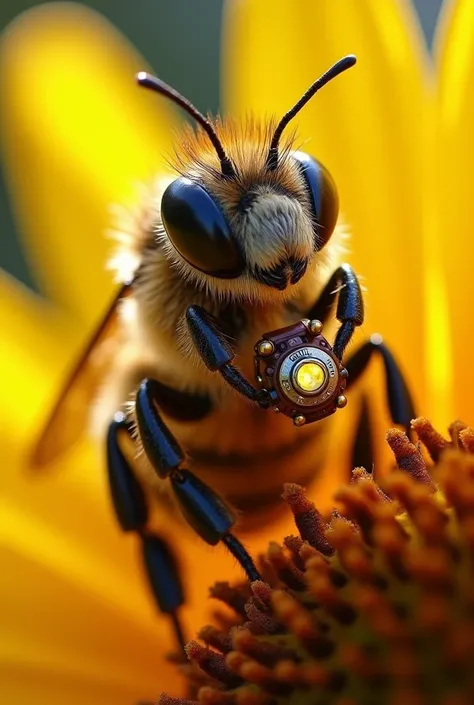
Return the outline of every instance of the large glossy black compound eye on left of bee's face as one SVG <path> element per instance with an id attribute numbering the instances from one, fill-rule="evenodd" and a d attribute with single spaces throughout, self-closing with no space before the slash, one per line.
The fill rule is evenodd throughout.
<path id="1" fill-rule="evenodd" d="M 224 214 L 202 186 L 173 181 L 161 199 L 161 218 L 173 247 L 192 267 L 220 279 L 242 274 L 244 261 Z"/>

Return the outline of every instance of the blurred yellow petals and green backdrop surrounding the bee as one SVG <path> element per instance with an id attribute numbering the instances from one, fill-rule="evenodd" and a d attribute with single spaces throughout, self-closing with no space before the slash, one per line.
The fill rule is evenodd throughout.
<path id="1" fill-rule="evenodd" d="M 430 36 L 437 4 L 423 5 L 432 9 Z M 321 92 L 298 123 L 335 176 L 353 231 L 351 261 L 368 288 L 362 337 L 383 333 L 418 407 L 438 425 L 453 414 L 474 421 L 471 0 L 447 3 L 435 62 L 409 0 L 94 7 L 112 24 L 83 5 L 51 3 L 9 25 L 0 45 L 0 265 L 42 294 L 0 278 L 0 689 L 8 705 L 127 705 L 179 691 L 165 663 L 169 625 L 144 587 L 134 537 L 113 520 L 100 451 L 84 444 L 41 482 L 27 475 L 45 410 L 114 289 L 104 270 L 108 204 L 132 201 L 135 182 L 164 167 L 182 119 L 136 89 L 136 71 L 153 66 L 203 111 L 282 114 L 333 61 L 358 55 L 350 76 Z M 3 23 L 19 9 L 2 3 Z M 338 478 L 328 472 L 318 501 L 327 506 Z M 249 539 L 252 551 L 267 543 L 267 529 L 288 533 L 285 522 L 264 527 Z M 173 539 L 179 532 L 194 634 L 210 618 L 208 585 L 239 573 L 180 525 L 164 530 Z"/>

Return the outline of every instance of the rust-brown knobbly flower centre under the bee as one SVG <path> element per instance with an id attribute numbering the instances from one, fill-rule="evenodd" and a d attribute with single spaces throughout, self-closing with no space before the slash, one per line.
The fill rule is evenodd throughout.
<path id="1" fill-rule="evenodd" d="M 474 431 L 413 429 L 424 448 L 389 431 L 398 469 L 376 482 L 356 468 L 328 520 L 285 486 L 299 535 L 270 544 L 265 582 L 216 586 L 235 626 L 187 647 L 200 702 L 474 701 Z"/>

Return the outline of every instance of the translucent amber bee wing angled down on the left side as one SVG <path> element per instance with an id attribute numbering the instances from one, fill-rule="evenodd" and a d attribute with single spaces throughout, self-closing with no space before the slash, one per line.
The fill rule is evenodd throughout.
<path id="1" fill-rule="evenodd" d="M 33 449 L 31 465 L 39 469 L 75 443 L 87 427 L 91 401 L 110 362 L 108 343 L 119 330 L 118 305 L 130 293 L 124 284 L 70 373 Z"/>

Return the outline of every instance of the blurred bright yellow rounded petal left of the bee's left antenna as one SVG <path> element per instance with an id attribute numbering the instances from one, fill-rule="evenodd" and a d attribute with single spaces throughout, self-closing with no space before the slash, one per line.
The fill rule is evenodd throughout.
<path id="1" fill-rule="evenodd" d="M 164 168 L 164 101 L 134 80 L 144 60 L 104 18 L 68 2 L 17 18 L 0 42 L 3 160 L 44 291 L 91 321 L 110 298 L 109 206 Z"/>

